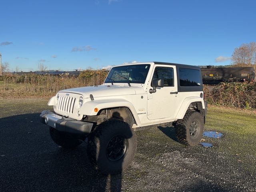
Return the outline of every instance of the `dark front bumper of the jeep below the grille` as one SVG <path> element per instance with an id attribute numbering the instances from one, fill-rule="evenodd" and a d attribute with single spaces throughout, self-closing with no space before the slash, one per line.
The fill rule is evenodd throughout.
<path id="1" fill-rule="evenodd" d="M 44 110 L 40 114 L 40 122 L 55 128 L 60 132 L 66 132 L 76 135 L 88 135 L 93 123 L 74 120 L 72 118 L 64 118 L 49 110 Z"/>

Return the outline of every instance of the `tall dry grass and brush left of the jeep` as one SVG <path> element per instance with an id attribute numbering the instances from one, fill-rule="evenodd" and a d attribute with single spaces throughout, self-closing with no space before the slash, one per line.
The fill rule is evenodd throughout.
<path id="1" fill-rule="evenodd" d="M 0 78 L 0 98 L 49 98 L 59 90 L 102 84 L 107 73 L 86 70 L 78 77 L 4 74 Z"/>

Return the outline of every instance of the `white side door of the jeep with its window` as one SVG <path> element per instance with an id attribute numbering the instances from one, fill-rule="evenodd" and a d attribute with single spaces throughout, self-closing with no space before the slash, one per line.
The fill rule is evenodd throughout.
<path id="1" fill-rule="evenodd" d="M 152 89 L 152 80 L 154 78 L 164 79 L 164 87 L 157 87 L 155 93 L 148 92 L 147 117 L 149 120 L 162 118 L 174 119 L 179 104 L 176 66 L 155 65 L 153 71 L 148 90 L 150 88 Z"/>

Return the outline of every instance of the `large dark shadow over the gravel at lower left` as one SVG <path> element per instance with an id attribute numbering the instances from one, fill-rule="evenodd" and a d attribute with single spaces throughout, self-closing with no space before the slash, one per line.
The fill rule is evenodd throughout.
<path id="1" fill-rule="evenodd" d="M 87 155 L 56 145 L 39 113 L 0 119 L 0 191 L 121 191 L 122 174 L 103 175 Z"/>

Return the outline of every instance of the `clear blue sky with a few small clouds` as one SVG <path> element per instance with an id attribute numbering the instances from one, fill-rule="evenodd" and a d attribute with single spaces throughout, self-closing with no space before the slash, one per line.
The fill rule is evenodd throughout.
<path id="1" fill-rule="evenodd" d="M 256 41 L 255 0 L 5 0 L 0 7 L 0 52 L 11 71 L 38 70 L 40 62 L 52 70 L 226 65 L 234 48 Z"/>

